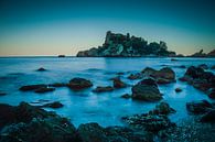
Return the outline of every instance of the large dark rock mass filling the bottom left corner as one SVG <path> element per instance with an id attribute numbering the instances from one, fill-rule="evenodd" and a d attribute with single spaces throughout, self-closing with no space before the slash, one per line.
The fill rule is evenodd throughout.
<path id="1" fill-rule="evenodd" d="M 0 116 L 1 142 L 78 142 L 76 129 L 67 119 L 26 102 L 0 105 Z"/>

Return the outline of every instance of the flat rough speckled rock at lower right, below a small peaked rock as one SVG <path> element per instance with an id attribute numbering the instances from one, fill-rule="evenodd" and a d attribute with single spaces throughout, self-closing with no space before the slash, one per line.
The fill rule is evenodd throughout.
<path id="1" fill-rule="evenodd" d="M 165 114 L 135 114 L 123 117 L 122 120 L 135 129 L 143 129 L 155 133 L 175 125 Z"/>

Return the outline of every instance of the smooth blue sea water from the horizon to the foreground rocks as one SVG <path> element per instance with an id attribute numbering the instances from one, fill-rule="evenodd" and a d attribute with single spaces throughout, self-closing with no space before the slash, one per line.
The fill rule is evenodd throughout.
<path id="1" fill-rule="evenodd" d="M 158 102 L 120 98 L 121 95 L 131 92 L 130 87 L 103 94 L 92 92 L 92 89 L 96 86 L 111 85 L 109 78 L 116 77 L 118 72 L 126 73 L 121 79 L 133 85 L 138 80 L 128 80 L 127 76 L 142 70 L 144 67 L 160 69 L 163 65 L 168 65 L 179 78 L 186 70 L 179 66 L 200 64 L 215 65 L 215 58 L 179 58 L 176 62 L 171 62 L 170 58 L 1 57 L 0 91 L 8 95 L 1 96 L 0 102 L 17 106 L 21 101 L 35 102 L 40 99 L 61 101 L 64 105 L 63 108 L 46 110 L 56 111 L 58 114 L 69 118 L 75 125 L 86 122 L 98 122 L 104 127 L 121 125 L 123 124 L 120 121 L 121 117 L 148 112 Z M 40 67 L 46 68 L 47 72 L 36 72 Z M 73 91 L 63 87 L 42 95 L 19 90 L 23 85 L 68 83 L 73 77 L 90 79 L 94 87 L 83 91 Z M 176 94 L 174 91 L 176 87 L 181 87 L 183 91 Z M 204 92 L 179 80 L 169 85 L 160 85 L 159 88 L 164 95 L 163 101 L 169 102 L 176 110 L 176 113 L 170 116 L 175 122 L 189 117 L 185 109 L 187 101 L 201 99 L 212 101 Z"/>

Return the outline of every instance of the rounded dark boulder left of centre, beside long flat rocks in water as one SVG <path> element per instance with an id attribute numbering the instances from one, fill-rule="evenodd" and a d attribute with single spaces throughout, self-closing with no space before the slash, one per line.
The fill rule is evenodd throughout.
<path id="1" fill-rule="evenodd" d="M 85 78 L 79 78 L 79 77 L 73 78 L 68 83 L 68 87 L 75 90 L 89 88 L 92 86 L 93 86 L 93 83 L 90 80 L 87 80 Z"/>

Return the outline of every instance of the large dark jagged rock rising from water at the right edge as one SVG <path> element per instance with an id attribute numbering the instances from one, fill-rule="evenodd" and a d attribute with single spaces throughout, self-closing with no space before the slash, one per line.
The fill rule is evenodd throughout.
<path id="1" fill-rule="evenodd" d="M 215 75 L 211 72 L 205 72 L 202 67 L 189 67 L 180 80 L 187 81 L 204 92 L 215 88 Z"/>

